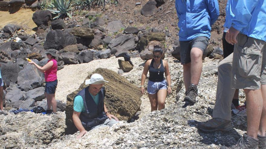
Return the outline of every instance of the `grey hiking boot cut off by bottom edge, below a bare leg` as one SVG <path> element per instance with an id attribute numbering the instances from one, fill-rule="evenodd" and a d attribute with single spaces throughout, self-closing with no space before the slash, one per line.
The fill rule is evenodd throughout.
<path id="1" fill-rule="evenodd" d="M 244 134 L 237 142 L 236 145 L 233 145 L 232 149 L 259 149 L 258 147 L 259 140 L 255 138 L 249 137 L 247 134 Z M 228 147 L 221 147 L 222 149 L 226 149 Z M 220 148 L 220 149 L 221 149 Z"/>

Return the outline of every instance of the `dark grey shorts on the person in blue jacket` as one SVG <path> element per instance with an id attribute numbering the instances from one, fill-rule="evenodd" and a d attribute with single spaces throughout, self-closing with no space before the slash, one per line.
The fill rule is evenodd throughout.
<path id="1" fill-rule="evenodd" d="M 209 44 L 209 39 L 205 36 L 199 36 L 190 41 L 179 41 L 179 43 L 181 64 L 183 65 L 191 62 L 190 51 L 192 48 L 199 48 L 204 53 Z"/>

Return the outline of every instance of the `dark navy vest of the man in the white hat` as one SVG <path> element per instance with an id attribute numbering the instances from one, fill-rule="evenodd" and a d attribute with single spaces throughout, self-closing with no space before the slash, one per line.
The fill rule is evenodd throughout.
<path id="1" fill-rule="evenodd" d="M 92 96 L 89 94 L 89 86 L 79 91 L 76 96 L 78 95 L 82 97 L 83 104 L 86 109 L 86 112 L 81 112 L 79 116 L 79 119 L 85 129 L 90 129 L 93 126 L 100 125 L 108 118 L 104 112 L 104 87 L 102 87 L 99 94 L 98 106 L 94 102 Z"/>

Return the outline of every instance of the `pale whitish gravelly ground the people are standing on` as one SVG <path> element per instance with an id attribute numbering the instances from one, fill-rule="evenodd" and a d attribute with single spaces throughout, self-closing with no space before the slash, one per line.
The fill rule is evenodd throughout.
<path id="1" fill-rule="evenodd" d="M 182 66 L 172 57 L 166 57 L 169 63 L 173 90 L 166 99 L 166 108 L 161 111 L 150 112 L 147 94 L 142 96 L 140 117 L 132 123 L 120 122 L 109 128 L 99 128 L 89 131 L 82 138 L 74 135 L 63 135 L 63 118 L 53 123 L 53 120 L 63 117 L 64 113 L 55 116 L 38 116 L 34 113 L 0 115 L 0 144 L 3 148 L 219 148 L 222 145 L 231 146 L 236 143 L 240 135 L 245 132 L 245 117 L 233 116 L 234 129 L 229 132 L 203 133 L 196 129 L 198 121 L 211 118 L 215 104 L 217 85 L 217 66 L 219 61 L 206 58 L 203 63 L 203 73 L 199 84 L 198 101 L 194 106 L 183 108 L 184 87 Z M 144 61 L 132 58 L 134 69 L 123 73 L 131 83 L 140 85 Z M 58 72 L 59 85 L 57 99 L 66 101 L 66 95 L 76 90 L 84 81 L 88 73 L 97 67 L 118 70 L 118 59 L 111 57 L 96 60 L 87 64 L 65 66 Z M 147 84 L 147 82 L 146 82 Z M 242 95 L 242 93 L 241 93 Z M 242 97 L 242 96 L 241 96 Z M 41 118 L 40 118 L 41 117 Z M 32 119 L 29 121 L 28 119 Z M 35 122 L 34 122 L 35 120 Z M 48 120 L 49 127 L 40 127 L 38 123 Z M 17 121 L 16 129 L 10 121 Z M 22 123 L 23 122 L 23 123 Z M 30 124 L 26 124 L 30 122 Z M 57 126 L 59 124 L 59 126 Z M 24 126 L 27 127 L 25 130 Z M 20 128 L 21 127 L 21 128 Z M 40 130 L 41 129 L 41 130 Z M 50 130 L 49 130 L 50 129 Z M 49 130 L 49 131 L 48 131 Z M 60 130 L 60 132 L 58 132 Z M 19 133 L 17 133 L 19 132 Z M 52 132 L 54 137 L 44 139 L 41 132 Z M 21 137 L 17 137 L 19 135 Z M 63 135 L 60 137 L 60 135 Z M 14 141 L 14 139 L 18 141 Z M 29 141 L 30 140 L 34 141 Z M 39 141 L 36 141 L 39 140 Z M 46 143 L 44 143 L 46 142 Z M 51 142 L 51 143 L 50 143 Z M 13 146 L 7 146 L 13 144 Z M 19 147 L 18 147 L 19 146 Z"/>

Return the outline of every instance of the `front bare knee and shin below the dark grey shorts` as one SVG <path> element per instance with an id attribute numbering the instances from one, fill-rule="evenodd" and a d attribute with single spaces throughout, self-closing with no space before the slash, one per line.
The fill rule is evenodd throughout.
<path id="1" fill-rule="evenodd" d="M 192 48 L 190 51 L 191 67 L 190 67 L 190 83 L 198 85 L 202 72 L 202 55 L 203 51 L 199 48 Z"/>

